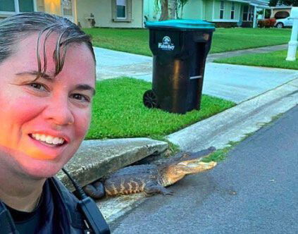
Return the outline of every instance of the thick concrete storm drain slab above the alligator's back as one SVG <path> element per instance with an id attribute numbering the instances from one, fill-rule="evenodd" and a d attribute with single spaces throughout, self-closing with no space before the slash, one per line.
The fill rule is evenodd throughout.
<path id="1" fill-rule="evenodd" d="M 107 173 L 117 171 L 151 154 L 160 154 L 166 149 L 167 142 L 149 138 L 85 140 L 64 168 L 81 186 L 85 186 Z M 75 190 L 65 173 L 60 171 L 57 177 L 70 191 Z"/>

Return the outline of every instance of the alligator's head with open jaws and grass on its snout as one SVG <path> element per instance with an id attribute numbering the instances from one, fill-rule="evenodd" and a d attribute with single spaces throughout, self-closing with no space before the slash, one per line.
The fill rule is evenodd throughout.
<path id="1" fill-rule="evenodd" d="M 209 147 L 200 152 L 185 152 L 171 159 L 167 164 L 161 165 L 159 171 L 163 180 L 163 185 L 173 185 L 173 183 L 181 180 L 188 174 L 200 173 L 216 166 L 215 161 L 210 161 L 208 163 L 201 161 L 215 150 L 215 147 Z"/>

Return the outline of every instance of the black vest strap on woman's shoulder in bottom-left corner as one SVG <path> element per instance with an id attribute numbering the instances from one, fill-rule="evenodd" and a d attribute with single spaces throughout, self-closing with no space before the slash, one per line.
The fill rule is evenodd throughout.
<path id="1" fill-rule="evenodd" d="M 13 218 L 3 202 L 0 201 L 0 233 L 17 234 Z"/>

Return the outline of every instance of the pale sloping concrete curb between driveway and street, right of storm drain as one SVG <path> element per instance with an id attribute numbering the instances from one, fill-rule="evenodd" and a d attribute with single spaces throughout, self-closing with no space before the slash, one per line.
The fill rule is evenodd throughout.
<path id="1" fill-rule="evenodd" d="M 229 146 L 229 142 L 238 142 L 259 130 L 271 122 L 273 117 L 297 104 L 298 78 L 168 135 L 167 138 L 182 150 L 195 152 L 209 146 L 222 149 Z"/>

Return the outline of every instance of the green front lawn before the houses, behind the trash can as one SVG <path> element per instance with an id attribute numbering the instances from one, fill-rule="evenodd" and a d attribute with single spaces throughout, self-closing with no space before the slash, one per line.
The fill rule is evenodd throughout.
<path id="1" fill-rule="evenodd" d="M 84 31 L 92 35 L 95 47 L 151 56 L 147 29 L 92 28 Z M 211 53 L 285 44 L 290 33 L 290 29 L 276 28 L 217 28 Z"/>

